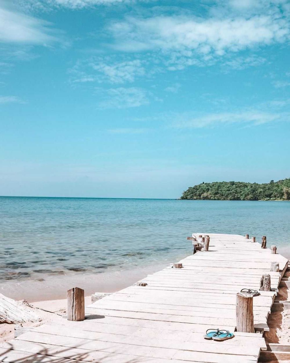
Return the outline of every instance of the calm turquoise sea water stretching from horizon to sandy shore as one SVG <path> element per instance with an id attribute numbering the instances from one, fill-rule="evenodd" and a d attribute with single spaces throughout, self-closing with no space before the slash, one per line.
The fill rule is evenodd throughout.
<path id="1" fill-rule="evenodd" d="M 0 280 L 174 262 L 192 232 L 267 236 L 290 252 L 290 203 L 0 197 Z"/>

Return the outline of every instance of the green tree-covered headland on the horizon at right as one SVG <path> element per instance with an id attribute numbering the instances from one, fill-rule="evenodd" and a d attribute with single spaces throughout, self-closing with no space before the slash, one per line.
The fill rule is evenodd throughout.
<path id="1" fill-rule="evenodd" d="M 181 199 L 193 200 L 290 200 L 290 178 L 270 183 L 214 181 L 189 187 Z"/>

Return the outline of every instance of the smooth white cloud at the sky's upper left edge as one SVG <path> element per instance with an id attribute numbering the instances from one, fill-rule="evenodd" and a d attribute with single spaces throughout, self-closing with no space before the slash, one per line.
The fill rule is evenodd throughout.
<path id="1" fill-rule="evenodd" d="M 57 40 L 51 24 L 35 17 L 17 13 L 0 4 L 0 42 L 47 45 Z"/>

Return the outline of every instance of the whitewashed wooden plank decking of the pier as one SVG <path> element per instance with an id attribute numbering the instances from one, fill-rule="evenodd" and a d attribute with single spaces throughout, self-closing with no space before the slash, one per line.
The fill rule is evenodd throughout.
<path id="1" fill-rule="evenodd" d="M 209 236 L 208 252 L 181 260 L 181 269 L 167 267 L 142 279 L 147 286 L 130 286 L 96 301 L 86 307 L 82 322 L 63 319 L 62 325 L 42 325 L 3 343 L 0 361 L 257 362 L 260 350 L 266 350 L 259 332 L 268 330 L 267 317 L 288 261 L 244 236 Z M 279 262 L 280 272 L 270 272 L 273 261 Z M 236 293 L 259 290 L 264 273 L 270 274 L 273 291 L 253 298 L 257 333 L 236 332 L 223 342 L 204 339 L 208 328 L 235 331 Z"/>

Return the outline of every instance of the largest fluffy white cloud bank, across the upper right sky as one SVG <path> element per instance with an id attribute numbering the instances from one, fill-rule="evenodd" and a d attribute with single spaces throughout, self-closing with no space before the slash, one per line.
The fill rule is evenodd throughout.
<path id="1" fill-rule="evenodd" d="M 143 50 L 195 50 L 199 55 L 222 56 L 257 45 L 282 42 L 289 37 L 284 19 L 253 16 L 250 19 L 198 19 L 189 16 L 157 16 L 147 19 L 128 17 L 112 24 L 115 49 L 127 52 Z M 190 56 L 190 54 L 188 54 Z"/>

